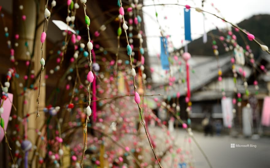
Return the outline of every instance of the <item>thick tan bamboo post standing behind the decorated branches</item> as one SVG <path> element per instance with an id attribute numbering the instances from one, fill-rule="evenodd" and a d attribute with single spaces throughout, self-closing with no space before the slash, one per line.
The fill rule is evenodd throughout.
<path id="1" fill-rule="evenodd" d="M 36 2 L 38 4 L 36 4 Z M 22 11 L 19 9 L 19 6 L 23 5 L 23 14 L 26 16 L 26 20 L 23 21 Z M 29 0 L 13 0 L 13 33 L 19 34 L 20 38 L 18 40 L 19 46 L 14 47 L 15 50 L 15 60 L 18 62 L 17 73 L 21 78 L 16 79 L 16 82 L 13 82 L 12 88 L 14 93 L 14 104 L 17 107 L 17 114 L 20 117 L 25 116 L 26 114 L 37 112 L 37 96 L 38 89 L 29 89 L 30 84 L 33 84 L 34 87 L 39 86 L 39 80 L 33 83 L 33 79 L 28 76 L 28 80 L 23 80 L 24 75 L 31 75 L 33 71 L 35 77 L 39 74 L 41 70 L 41 41 L 40 36 L 43 30 L 42 26 L 36 27 L 38 23 L 44 20 L 44 5 L 45 1 L 29 1 Z M 47 23 L 46 23 L 47 24 Z M 14 37 L 14 35 L 12 37 Z M 36 38 L 35 38 L 36 36 Z M 43 57 L 46 58 L 46 45 L 43 45 Z M 30 65 L 28 68 L 25 66 L 25 62 L 29 61 Z M 42 71 L 41 75 L 41 88 L 40 88 L 40 109 L 45 107 L 45 87 L 42 86 L 44 83 L 45 70 Z M 39 79 L 39 77 L 38 77 Z M 24 87 L 27 87 L 25 94 L 19 96 L 24 92 L 23 88 L 18 87 L 19 83 L 23 83 Z M 27 86 L 26 86 L 27 84 Z M 16 86 L 15 86 L 16 85 Z M 39 149 L 39 144 L 41 143 L 40 137 L 37 135 L 36 130 L 40 130 L 41 126 L 44 124 L 44 113 L 40 113 L 40 117 L 36 120 L 36 115 L 30 115 L 28 117 L 27 123 L 27 139 L 32 142 L 33 146 L 37 145 L 37 152 L 44 157 L 43 149 Z M 24 129 L 21 130 L 21 136 L 25 133 Z M 38 140 L 36 142 L 36 140 Z M 29 152 L 29 161 L 32 159 L 32 156 L 35 157 L 32 167 L 39 167 L 37 164 L 37 159 L 39 156 L 36 156 L 32 152 Z M 30 162 L 29 162 L 30 163 Z M 31 163 L 30 163 L 31 164 Z"/>

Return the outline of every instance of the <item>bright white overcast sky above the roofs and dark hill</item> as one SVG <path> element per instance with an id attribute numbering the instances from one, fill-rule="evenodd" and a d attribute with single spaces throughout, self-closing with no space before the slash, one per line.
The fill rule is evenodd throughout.
<path id="1" fill-rule="evenodd" d="M 178 3 L 181 5 L 190 5 L 201 8 L 201 0 L 154 0 L 155 4 Z M 211 5 L 220 10 L 220 13 Z M 152 5 L 153 0 L 144 0 L 144 5 Z M 224 17 L 226 20 L 236 24 L 255 14 L 270 14 L 270 0 L 206 0 L 204 10 Z M 184 39 L 184 15 L 182 6 L 165 5 L 156 6 L 158 20 L 161 27 L 165 30 L 165 35 L 171 35 L 171 41 L 174 47 L 181 47 L 181 40 Z M 150 56 L 156 56 L 160 53 L 160 30 L 156 22 L 155 7 L 143 7 L 143 17 L 145 24 L 145 34 L 147 36 L 147 48 Z M 164 19 L 167 16 L 167 19 Z M 206 14 L 205 28 L 206 32 L 214 29 L 228 26 L 210 14 Z M 245 28 L 245 27 L 243 27 Z M 248 31 L 248 30 L 247 30 Z M 252 32 L 251 32 L 252 33 Z M 195 9 L 191 9 L 191 38 L 196 39 L 203 34 L 203 15 Z"/>

